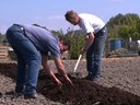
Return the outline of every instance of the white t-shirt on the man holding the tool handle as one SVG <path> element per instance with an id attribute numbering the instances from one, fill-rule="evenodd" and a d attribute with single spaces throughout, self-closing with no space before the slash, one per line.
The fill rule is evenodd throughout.
<path id="1" fill-rule="evenodd" d="M 80 23 L 78 24 L 85 34 L 93 32 L 97 33 L 101 28 L 105 26 L 105 23 L 97 16 L 88 13 L 81 13 Z"/>

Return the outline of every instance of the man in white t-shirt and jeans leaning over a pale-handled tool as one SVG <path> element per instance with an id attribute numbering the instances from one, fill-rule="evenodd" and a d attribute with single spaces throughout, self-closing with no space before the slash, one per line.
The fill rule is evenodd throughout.
<path id="1" fill-rule="evenodd" d="M 86 52 L 88 75 L 85 79 L 94 81 L 100 78 L 102 56 L 107 37 L 105 23 L 97 16 L 89 13 L 78 14 L 70 10 L 65 14 L 66 20 L 73 25 L 79 25 L 85 34 L 85 44 L 80 54 Z"/>

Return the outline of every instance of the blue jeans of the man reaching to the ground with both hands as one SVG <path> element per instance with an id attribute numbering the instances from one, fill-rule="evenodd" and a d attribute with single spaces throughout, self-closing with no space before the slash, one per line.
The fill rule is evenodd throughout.
<path id="1" fill-rule="evenodd" d="M 24 31 L 12 25 L 7 31 L 7 38 L 18 56 L 16 88 L 23 89 L 24 94 L 36 92 L 40 52 L 25 36 Z"/>

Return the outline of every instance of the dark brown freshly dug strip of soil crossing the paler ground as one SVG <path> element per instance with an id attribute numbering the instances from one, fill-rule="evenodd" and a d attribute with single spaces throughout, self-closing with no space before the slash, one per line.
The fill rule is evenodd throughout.
<path id="1" fill-rule="evenodd" d="M 15 63 L 0 63 L 0 73 L 15 79 Z M 117 88 L 104 88 L 95 82 L 71 78 L 74 86 L 66 83 L 57 88 L 49 77 L 40 74 L 38 77 L 38 93 L 54 102 L 66 105 L 140 105 L 140 96 Z M 62 78 L 56 75 L 63 82 Z"/>

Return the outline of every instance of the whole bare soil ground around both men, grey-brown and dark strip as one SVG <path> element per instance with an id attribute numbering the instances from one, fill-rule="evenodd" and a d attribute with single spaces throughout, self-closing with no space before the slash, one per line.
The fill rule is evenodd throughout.
<path id="1" fill-rule="evenodd" d="M 63 61 L 66 70 L 73 71 L 75 60 Z M 56 72 L 50 60 L 49 66 Z M 140 57 L 104 58 L 102 75 L 98 81 L 82 79 L 86 75 L 85 61 L 81 60 L 77 74 L 70 77 L 73 86 L 67 85 L 56 72 L 63 85 L 58 88 L 48 75 L 39 73 L 37 100 L 24 100 L 10 94 L 15 86 L 15 62 L 0 62 L 0 105 L 140 105 Z M 77 75 L 75 74 L 75 75 Z"/>

